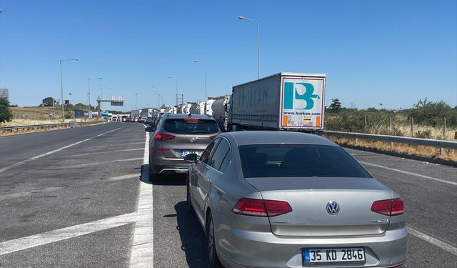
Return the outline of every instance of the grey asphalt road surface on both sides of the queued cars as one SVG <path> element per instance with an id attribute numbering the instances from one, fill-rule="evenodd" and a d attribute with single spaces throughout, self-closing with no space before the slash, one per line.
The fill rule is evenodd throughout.
<path id="1" fill-rule="evenodd" d="M 0 137 L 0 267 L 206 267 L 185 177 L 149 184 L 147 139 L 133 123 Z M 347 151 L 403 197 L 407 267 L 457 267 L 457 169 Z"/>

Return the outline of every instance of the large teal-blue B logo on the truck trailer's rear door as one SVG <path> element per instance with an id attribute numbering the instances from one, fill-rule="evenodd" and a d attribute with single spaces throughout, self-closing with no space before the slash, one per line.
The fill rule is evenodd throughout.
<path id="1" fill-rule="evenodd" d="M 303 94 L 298 94 L 298 90 L 293 88 L 293 82 L 284 83 L 284 109 L 293 109 L 293 99 L 302 99 L 306 102 L 305 107 L 296 107 L 296 109 L 313 109 L 313 98 L 321 99 L 319 95 L 314 93 L 314 86 L 309 83 L 295 83 L 305 87 Z"/>

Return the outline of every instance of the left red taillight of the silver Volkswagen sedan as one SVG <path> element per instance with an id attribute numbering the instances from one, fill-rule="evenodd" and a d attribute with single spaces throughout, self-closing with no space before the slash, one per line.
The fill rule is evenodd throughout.
<path id="1" fill-rule="evenodd" d="M 231 211 L 246 216 L 274 217 L 291 212 L 292 208 L 284 201 L 241 198 Z"/>

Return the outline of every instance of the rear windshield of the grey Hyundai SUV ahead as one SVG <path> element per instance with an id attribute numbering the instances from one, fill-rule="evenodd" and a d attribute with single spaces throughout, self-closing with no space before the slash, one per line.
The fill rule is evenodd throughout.
<path id="1" fill-rule="evenodd" d="M 164 130 L 175 134 L 214 134 L 219 132 L 219 126 L 214 120 L 166 119 Z"/>

